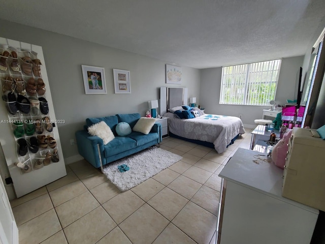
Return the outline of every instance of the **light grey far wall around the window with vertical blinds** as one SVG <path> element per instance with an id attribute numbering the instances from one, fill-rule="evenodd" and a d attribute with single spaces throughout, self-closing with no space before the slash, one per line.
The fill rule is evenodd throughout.
<path id="1" fill-rule="evenodd" d="M 304 56 L 283 58 L 275 101 L 284 105 L 286 99 L 297 99 L 297 73 L 303 65 Z M 254 125 L 254 119 L 262 118 L 268 106 L 222 105 L 219 104 L 222 68 L 201 70 L 200 105 L 206 113 L 239 117 L 245 125 Z M 298 82 L 297 82 L 298 83 Z"/>

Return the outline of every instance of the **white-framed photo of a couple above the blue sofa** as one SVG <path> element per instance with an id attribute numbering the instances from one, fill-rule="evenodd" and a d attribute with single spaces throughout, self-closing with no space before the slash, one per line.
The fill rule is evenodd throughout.
<path id="1" fill-rule="evenodd" d="M 104 68 L 82 65 L 81 69 L 86 94 L 107 94 Z"/>

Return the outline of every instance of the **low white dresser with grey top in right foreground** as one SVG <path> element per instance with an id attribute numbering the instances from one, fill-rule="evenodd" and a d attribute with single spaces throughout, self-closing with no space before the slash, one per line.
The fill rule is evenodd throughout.
<path id="1" fill-rule="evenodd" d="M 282 197 L 283 170 L 266 155 L 239 148 L 219 173 L 217 243 L 310 243 L 319 211 Z"/>

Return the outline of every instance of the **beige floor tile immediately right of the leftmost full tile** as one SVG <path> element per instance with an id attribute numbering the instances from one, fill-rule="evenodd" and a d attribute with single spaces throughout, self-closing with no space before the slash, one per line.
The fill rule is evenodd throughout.
<path id="1" fill-rule="evenodd" d="M 82 184 L 80 180 L 73 181 L 70 184 L 55 189 L 49 192 L 54 207 L 62 204 L 63 202 L 69 201 L 70 199 L 84 193 L 87 188 Z"/>

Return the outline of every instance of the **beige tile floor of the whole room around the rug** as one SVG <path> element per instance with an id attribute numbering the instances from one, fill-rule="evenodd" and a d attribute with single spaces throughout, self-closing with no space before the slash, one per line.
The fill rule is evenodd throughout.
<path id="1" fill-rule="evenodd" d="M 11 201 L 19 243 L 215 242 L 221 178 L 218 173 L 250 132 L 219 155 L 176 138 L 160 147 L 183 159 L 126 192 L 82 160 L 67 176 Z"/>

